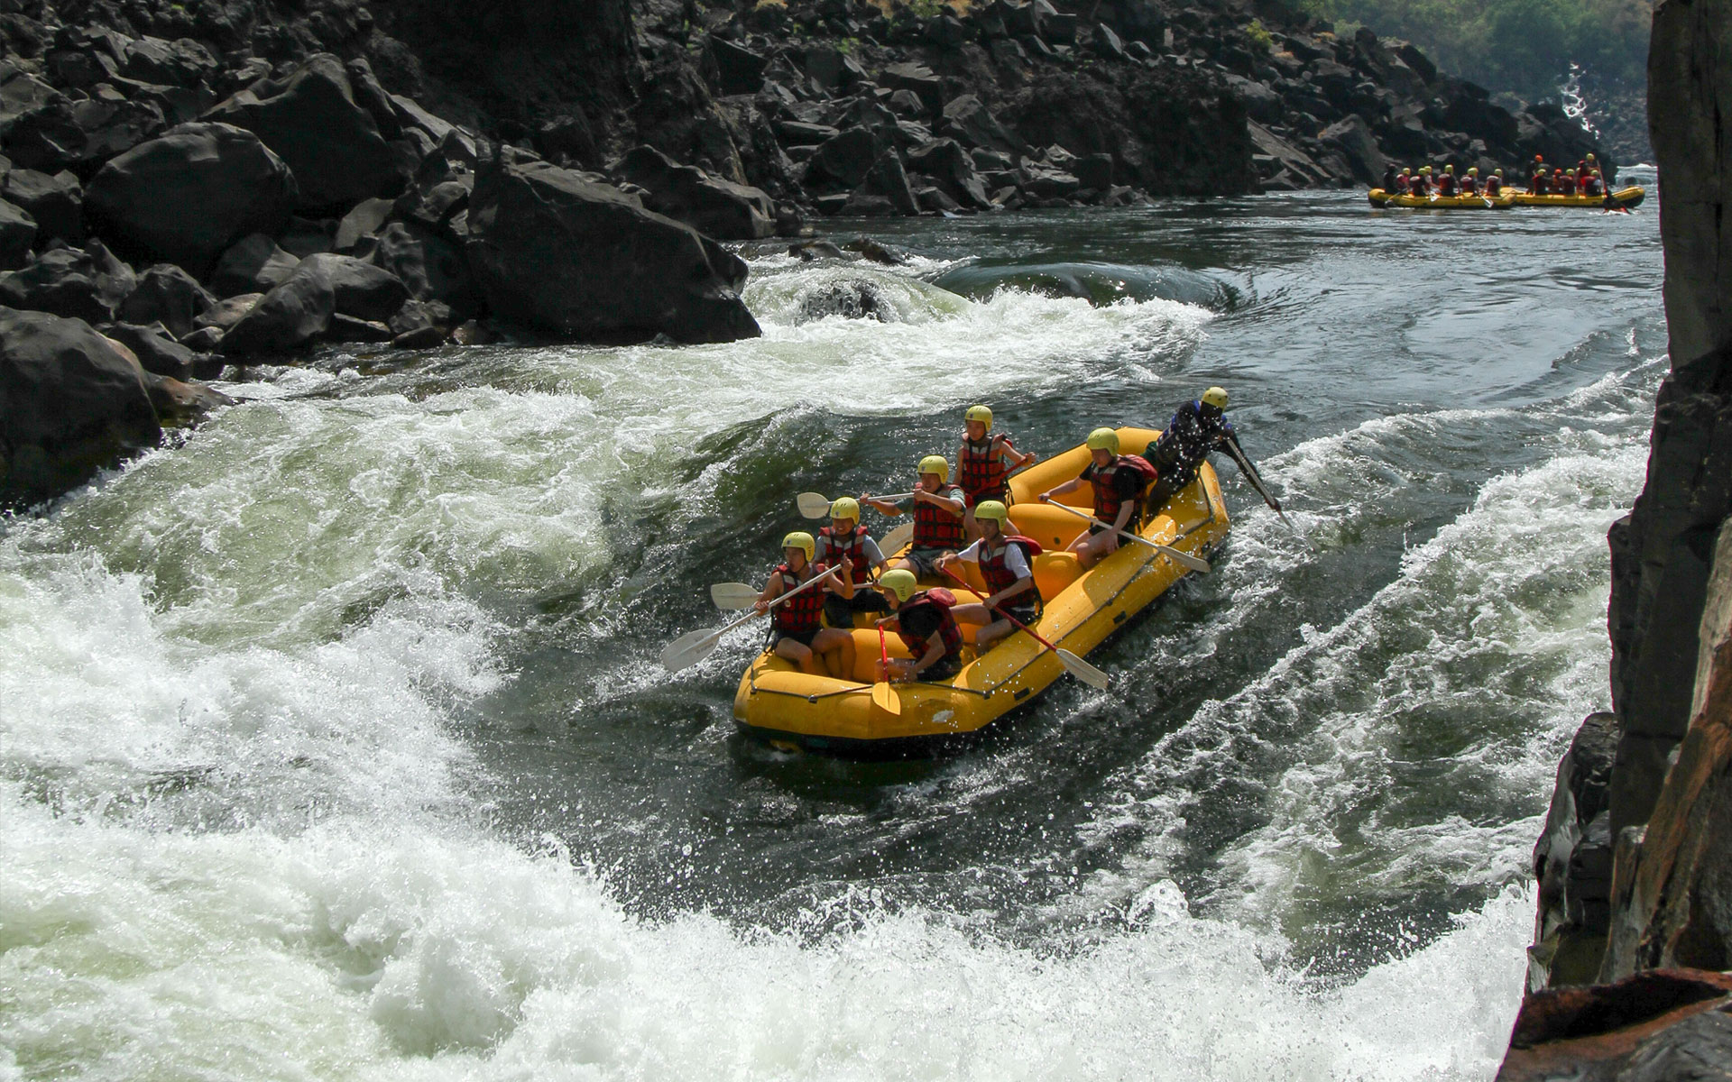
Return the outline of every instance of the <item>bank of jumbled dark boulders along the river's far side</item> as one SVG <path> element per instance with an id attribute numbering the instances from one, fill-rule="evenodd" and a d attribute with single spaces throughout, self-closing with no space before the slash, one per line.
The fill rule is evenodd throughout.
<path id="1" fill-rule="evenodd" d="M 1412 45 L 1237 0 L 7 0 L 0 42 L 0 306 L 99 331 L 133 398 L 320 343 L 753 336 L 717 241 L 831 215 L 1597 149 Z M 19 466 L 55 452 L 14 419 L 0 455 L 9 504 L 88 473 Z"/>

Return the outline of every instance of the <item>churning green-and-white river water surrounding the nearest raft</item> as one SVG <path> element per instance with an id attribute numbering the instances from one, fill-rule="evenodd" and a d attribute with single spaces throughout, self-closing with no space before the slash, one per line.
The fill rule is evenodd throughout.
<path id="1" fill-rule="evenodd" d="M 1491 1075 L 1607 705 L 1652 208 L 838 234 L 911 260 L 748 253 L 760 341 L 255 372 L 0 526 L 0 1079 Z M 1304 540 L 1219 462 L 1108 691 L 850 763 L 734 736 L 757 632 L 656 665 L 795 492 L 1212 383 Z"/>

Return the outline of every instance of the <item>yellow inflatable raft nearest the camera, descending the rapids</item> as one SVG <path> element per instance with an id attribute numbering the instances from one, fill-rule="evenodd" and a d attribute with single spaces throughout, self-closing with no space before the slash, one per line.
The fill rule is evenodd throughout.
<path id="1" fill-rule="evenodd" d="M 1119 445 L 1124 454 L 1141 454 L 1159 435 L 1147 428 L 1121 428 Z M 1088 459 L 1088 448 L 1079 445 L 1010 480 L 1011 528 L 1044 549 L 1034 561 L 1034 580 L 1046 608 L 1034 627 L 1053 644 L 1076 654 L 1088 654 L 1100 646 L 1186 573 L 1136 542 L 1124 542 L 1089 571 L 1082 571 L 1076 557 L 1063 551 L 1088 525 L 1036 502 L 1036 495 L 1076 478 Z M 1088 486 L 1062 499 L 1084 511 L 1093 506 Z M 1141 535 L 1204 556 L 1221 544 L 1226 530 L 1221 483 L 1214 469 L 1204 464 L 1197 481 L 1176 495 L 1162 514 L 1145 523 Z M 963 564 L 963 573 L 975 592 L 949 580 L 923 585 L 951 587 L 963 604 L 979 601 L 979 592 L 984 590 L 979 570 Z M 973 630 L 972 625 L 963 625 L 970 641 Z M 908 656 L 895 635 L 889 641 L 892 656 Z M 769 741 L 847 755 L 901 755 L 980 732 L 1029 703 L 1065 672 L 1051 651 L 1022 632 L 999 641 L 980 658 L 972 656 L 972 646 L 965 649 L 966 661 L 954 680 L 894 686 L 902 705 L 901 715 L 890 715 L 871 701 L 869 680 L 878 660 L 878 632 L 873 628 L 854 630 L 854 680 L 812 677 L 766 651 L 740 677 L 734 720 L 746 732 Z"/>

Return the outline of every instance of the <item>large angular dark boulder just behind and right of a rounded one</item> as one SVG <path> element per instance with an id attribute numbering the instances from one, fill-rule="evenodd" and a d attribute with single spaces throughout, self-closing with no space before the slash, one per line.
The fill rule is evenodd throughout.
<path id="1" fill-rule="evenodd" d="M 253 132 L 282 158 L 300 185 L 301 209 L 346 211 L 362 199 L 404 190 L 400 158 L 355 104 L 348 69 L 331 54 L 248 87 L 206 118 Z"/>

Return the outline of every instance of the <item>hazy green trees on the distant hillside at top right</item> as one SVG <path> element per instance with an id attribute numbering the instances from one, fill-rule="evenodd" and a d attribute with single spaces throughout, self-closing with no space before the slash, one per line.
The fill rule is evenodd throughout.
<path id="1" fill-rule="evenodd" d="M 1439 68 L 1526 99 L 1557 93 L 1571 64 L 1611 87 L 1647 78 L 1651 0 L 1301 0 L 1337 31 L 1408 38 Z"/>

